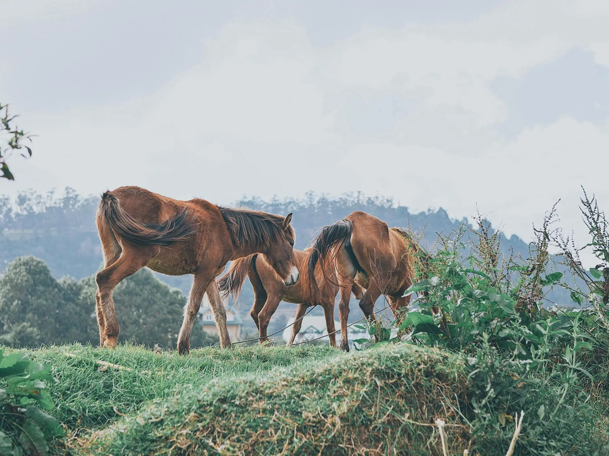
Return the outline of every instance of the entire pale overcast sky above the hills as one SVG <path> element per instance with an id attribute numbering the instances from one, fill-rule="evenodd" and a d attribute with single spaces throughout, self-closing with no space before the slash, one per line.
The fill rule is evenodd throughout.
<path id="1" fill-rule="evenodd" d="M 0 0 L 0 193 L 393 196 L 505 232 L 609 207 L 609 2 Z"/>

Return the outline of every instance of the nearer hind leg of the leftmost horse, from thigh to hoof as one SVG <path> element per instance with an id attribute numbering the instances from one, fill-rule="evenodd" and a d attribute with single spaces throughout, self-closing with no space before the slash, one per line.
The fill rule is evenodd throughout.
<path id="1" fill-rule="evenodd" d="M 103 347 L 114 348 L 118 344 L 118 335 L 121 328 L 116 319 L 112 292 L 125 277 L 129 277 L 158 254 L 160 247 L 128 247 L 124 249 L 121 257 L 107 268 L 97 272 L 95 282 L 97 283 L 97 319 L 103 320 L 104 327 L 100 328 L 100 342 Z M 99 309 L 100 308 L 100 309 Z"/>

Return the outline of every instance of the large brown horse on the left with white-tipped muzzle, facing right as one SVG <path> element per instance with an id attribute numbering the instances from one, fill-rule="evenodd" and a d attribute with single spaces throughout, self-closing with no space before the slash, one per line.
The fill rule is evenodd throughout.
<path id="1" fill-rule="evenodd" d="M 205 199 L 178 201 L 140 187 L 105 192 L 97 210 L 105 268 L 98 272 L 96 310 L 100 347 L 118 344 L 119 324 L 112 291 L 121 280 L 148 266 L 169 275 L 194 274 L 178 336 L 178 352 L 188 353 L 190 335 L 203 295 L 230 347 L 226 311 L 214 278 L 229 260 L 253 253 L 269 258 L 286 285 L 298 281 L 292 252 L 292 214 L 286 217 L 216 206 Z"/>

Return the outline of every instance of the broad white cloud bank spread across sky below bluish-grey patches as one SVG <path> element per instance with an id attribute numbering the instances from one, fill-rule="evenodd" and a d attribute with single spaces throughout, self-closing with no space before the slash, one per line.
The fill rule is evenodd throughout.
<path id="1" fill-rule="evenodd" d="M 461 22 L 362 24 L 327 47 L 297 16 L 231 20 L 152 94 L 22 113 L 40 135 L 35 156 L 14 161 L 18 182 L 0 192 L 135 184 L 226 204 L 363 190 L 457 218 L 478 204 L 524 238 L 563 198 L 563 225 L 582 233 L 579 185 L 609 204 L 590 174 L 609 166 L 607 122 L 566 116 L 506 138 L 498 126 L 513 113 L 491 82 L 573 47 L 609 66 L 603 4 L 510 2 Z"/>

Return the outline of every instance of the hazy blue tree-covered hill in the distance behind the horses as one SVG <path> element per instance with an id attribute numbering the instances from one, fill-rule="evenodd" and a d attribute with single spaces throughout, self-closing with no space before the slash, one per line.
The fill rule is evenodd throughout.
<path id="1" fill-rule="evenodd" d="M 0 271 L 15 257 L 34 255 L 44 260 L 57 278 L 68 275 L 80 279 L 94 274 L 102 263 L 95 225 L 98 202 L 99 198 L 96 196 L 81 196 L 71 188 L 66 188 L 62 196 L 55 193 L 40 195 L 30 191 L 21 193 L 15 199 L 0 197 Z M 297 233 L 298 249 L 304 249 L 320 227 L 334 223 L 354 210 L 375 215 L 389 226 L 411 227 L 417 232 L 424 230 L 424 245 L 428 247 L 434 244 L 437 233 L 449 233 L 466 223 L 466 219 L 451 219 L 442 208 L 410 213 L 407 207 L 396 206 L 390 198 L 370 198 L 361 193 L 343 195 L 340 198 L 309 193 L 305 199 L 287 198 L 272 201 L 244 198 L 236 202 L 235 206 L 246 206 L 280 215 L 293 212 L 292 224 Z M 509 253 L 510 249 L 515 253 L 522 252 L 523 255 L 528 252 L 527 244 L 516 235 L 507 238 L 502 234 L 501 249 L 505 253 Z M 170 277 L 158 274 L 158 277 L 185 293 L 188 293 L 192 283 L 190 275 Z M 558 291 L 553 293 L 554 300 L 570 302 L 568 294 Z M 246 283 L 241 297 L 240 314 L 248 324 L 251 319 L 247 316 L 246 308 L 252 301 L 252 288 Z M 294 305 L 282 304 L 281 308 L 286 309 L 288 313 L 295 311 Z M 351 309 L 353 318 L 359 315 L 359 307 L 355 303 Z M 283 317 L 276 319 L 276 322 L 281 323 L 281 320 Z M 279 328 L 281 326 L 277 327 Z"/>

